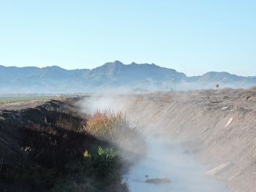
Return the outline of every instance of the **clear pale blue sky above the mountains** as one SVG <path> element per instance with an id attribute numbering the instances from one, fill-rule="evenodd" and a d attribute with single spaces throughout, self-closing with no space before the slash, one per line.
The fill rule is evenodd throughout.
<path id="1" fill-rule="evenodd" d="M 0 0 L 0 65 L 256 75 L 256 1 Z"/>

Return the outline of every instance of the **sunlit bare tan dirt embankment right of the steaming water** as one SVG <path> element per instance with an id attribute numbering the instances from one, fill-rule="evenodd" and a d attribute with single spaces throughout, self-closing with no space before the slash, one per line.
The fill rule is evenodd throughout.
<path id="1" fill-rule="evenodd" d="M 255 191 L 255 89 L 119 96 L 115 103 L 146 127 L 167 131 L 230 191 Z"/>

